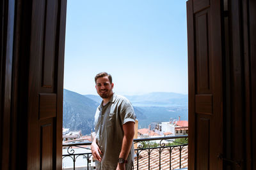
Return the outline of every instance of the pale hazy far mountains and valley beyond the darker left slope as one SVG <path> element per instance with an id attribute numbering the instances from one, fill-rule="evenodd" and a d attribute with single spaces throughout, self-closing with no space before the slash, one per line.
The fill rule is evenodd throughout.
<path id="1" fill-rule="evenodd" d="M 94 101 L 99 96 L 84 95 Z M 150 122 L 168 122 L 170 118 L 188 120 L 188 95 L 172 92 L 151 92 L 144 95 L 125 96 L 134 106 L 139 127 L 148 127 Z M 141 114 L 142 113 L 142 114 Z"/>

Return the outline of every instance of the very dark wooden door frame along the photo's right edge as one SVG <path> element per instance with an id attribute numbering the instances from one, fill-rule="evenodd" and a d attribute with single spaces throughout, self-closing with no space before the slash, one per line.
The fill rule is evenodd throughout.
<path id="1" fill-rule="evenodd" d="M 252 0 L 228 1 L 226 36 L 225 169 L 256 167 L 256 3 Z"/>

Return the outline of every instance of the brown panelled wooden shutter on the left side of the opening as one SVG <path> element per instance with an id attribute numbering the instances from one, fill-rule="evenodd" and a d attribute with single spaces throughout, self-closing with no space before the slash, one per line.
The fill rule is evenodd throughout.
<path id="1" fill-rule="evenodd" d="M 61 169 L 67 1 L 33 0 L 28 76 L 28 169 Z"/>

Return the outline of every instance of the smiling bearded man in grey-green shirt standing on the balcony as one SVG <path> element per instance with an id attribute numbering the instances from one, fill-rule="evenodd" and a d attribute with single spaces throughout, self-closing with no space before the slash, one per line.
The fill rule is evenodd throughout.
<path id="1" fill-rule="evenodd" d="M 131 170 L 136 117 L 132 105 L 125 97 L 113 93 L 110 74 L 97 74 L 95 83 L 102 97 L 95 113 L 95 138 L 91 145 L 97 170 Z"/>

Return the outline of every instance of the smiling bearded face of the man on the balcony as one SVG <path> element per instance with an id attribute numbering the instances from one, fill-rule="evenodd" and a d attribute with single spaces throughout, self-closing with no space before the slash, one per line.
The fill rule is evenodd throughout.
<path id="1" fill-rule="evenodd" d="M 96 80 L 97 93 L 102 99 L 106 99 L 112 96 L 114 84 L 109 82 L 108 76 L 100 77 Z"/>

